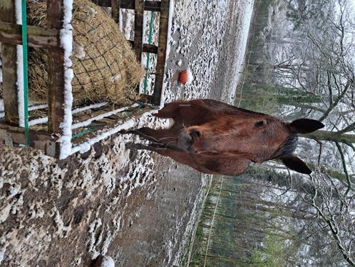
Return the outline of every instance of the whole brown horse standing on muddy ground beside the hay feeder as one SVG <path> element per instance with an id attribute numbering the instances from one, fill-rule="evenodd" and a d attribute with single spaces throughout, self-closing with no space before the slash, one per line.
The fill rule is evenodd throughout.
<path id="1" fill-rule="evenodd" d="M 279 158 L 285 166 L 311 173 L 293 154 L 297 133 L 310 133 L 324 127 L 319 121 L 298 119 L 290 124 L 211 99 L 176 101 L 166 104 L 158 118 L 174 119 L 170 129 L 147 127 L 127 131 L 147 139 L 148 146 L 135 148 L 155 151 L 203 173 L 235 176 L 251 162 Z"/>

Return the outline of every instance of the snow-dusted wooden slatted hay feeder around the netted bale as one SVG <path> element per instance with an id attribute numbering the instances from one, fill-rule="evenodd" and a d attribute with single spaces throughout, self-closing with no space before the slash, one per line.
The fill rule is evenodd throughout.
<path id="1" fill-rule="evenodd" d="M 86 104 L 73 102 L 73 71 L 70 58 L 73 49 L 72 0 L 46 1 L 46 28 L 43 26 L 22 27 L 21 17 L 19 18 L 21 6 L 16 6 L 20 2 L 1 0 L 0 4 L 3 71 L 0 141 L 11 146 L 26 145 L 39 148 L 48 156 L 63 159 L 76 152 L 88 151 L 94 143 L 103 138 L 121 129 L 132 127 L 132 117 L 151 113 L 153 110 L 150 104 L 160 104 L 165 72 L 169 0 L 93 0 L 96 4 L 109 6 L 116 22 L 119 21 L 120 9 L 134 9 L 135 39 L 131 43 L 135 55 L 138 59 L 141 58 L 142 52 L 158 56 L 153 94 L 140 96 L 140 99 L 144 99 L 145 105 L 131 103 L 128 106 L 117 106 L 105 101 L 104 98 L 100 99 L 101 101 L 96 100 L 95 103 L 93 101 Z M 143 11 L 159 12 L 159 44 L 157 46 L 143 44 Z M 26 21 L 26 18 L 22 21 Z M 24 29 L 27 34 L 23 34 Z M 18 78 L 22 75 L 17 66 L 17 62 L 22 61 L 17 51 L 18 45 L 46 49 L 48 56 L 47 103 L 28 105 L 26 102 L 26 97 L 24 97 L 26 86 L 22 86 Z M 26 76 L 25 73 L 24 76 Z"/>

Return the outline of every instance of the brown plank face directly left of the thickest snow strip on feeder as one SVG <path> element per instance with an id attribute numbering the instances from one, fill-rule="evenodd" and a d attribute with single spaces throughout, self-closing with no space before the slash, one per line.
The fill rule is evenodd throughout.
<path id="1" fill-rule="evenodd" d="M 63 0 L 47 0 L 48 28 L 63 28 Z M 64 51 L 61 47 L 48 50 L 48 131 L 62 133 L 60 125 L 64 118 Z"/>

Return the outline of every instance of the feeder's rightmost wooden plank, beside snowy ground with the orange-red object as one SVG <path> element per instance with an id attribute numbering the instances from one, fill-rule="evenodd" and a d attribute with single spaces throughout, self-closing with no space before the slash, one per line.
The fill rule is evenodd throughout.
<path id="1" fill-rule="evenodd" d="M 159 105 L 163 91 L 166 46 L 168 42 L 169 0 L 162 0 L 159 23 L 158 59 L 155 69 L 155 84 L 152 104 Z"/>

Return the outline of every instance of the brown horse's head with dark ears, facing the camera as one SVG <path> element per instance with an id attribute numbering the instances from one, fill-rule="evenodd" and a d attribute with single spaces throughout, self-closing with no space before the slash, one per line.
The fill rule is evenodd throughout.
<path id="1" fill-rule="evenodd" d="M 310 173 L 306 164 L 292 154 L 297 133 L 309 133 L 323 126 L 310 119 L 287 124 L 273 116 L 245 111 L 187 127 L 179 133 L 177 145 L 190 153 L 238 155 L 254 162 L 280 158 L 287 167 Z"/>

